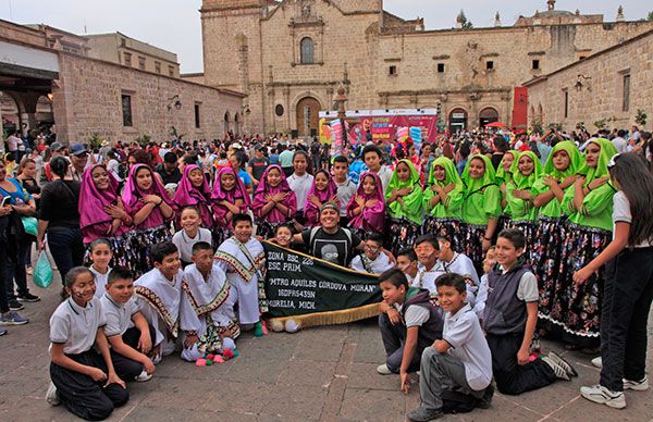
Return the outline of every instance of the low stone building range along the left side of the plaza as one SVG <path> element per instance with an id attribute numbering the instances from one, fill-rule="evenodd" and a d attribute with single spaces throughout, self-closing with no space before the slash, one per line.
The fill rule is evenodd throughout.
<path id="1" fill-rule="evenodd" d="M 0 51 L 4 129 L 54 124 L 64 142 L 212 139 L 243 129 L 243 95 L 180 78 L 176 54 L 120 33 L 94 38 L 0 21 Z"/>

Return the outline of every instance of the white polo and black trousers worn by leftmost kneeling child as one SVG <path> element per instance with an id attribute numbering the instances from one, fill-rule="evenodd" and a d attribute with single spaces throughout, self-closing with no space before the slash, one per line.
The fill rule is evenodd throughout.
<path id="1" fill-rule="evenodd" d="M 63 352 L 75 362 L 107 373 L 103 358 L 93 348 L 98 328 L 104 325 L 98 299 L 91 299 L 83 308 L 69 298 L 50 318 L 50 342 L 63 345 Z M 95 382 L 88 375 L 54 362 L 50 363 L 50 378 L 61 404 L 71 413 L 86 420 L 107 419 L 114 408 L 130 399 L 130 393 L 118 384 L 104 387 L 104 381 Z"/>

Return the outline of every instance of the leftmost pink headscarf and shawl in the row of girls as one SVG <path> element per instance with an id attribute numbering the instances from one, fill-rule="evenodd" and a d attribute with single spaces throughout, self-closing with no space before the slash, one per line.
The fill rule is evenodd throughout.
<path id="1" fill-rule="evenodd" d="M 118 181 L 110 172 L 109 187 L 98 190 L 93 181 L 93 171 L 97 167 L 107 167 L 102 164 L 91 165 L 84 172 L 82 188 L 79 189 L 79 228 L 84 229 L 91 225 L 113 222 L 113 218 L 104 212 L 104 207 L 114 206 L 118 201 Z M 108 227 L 107 227 L 108 228 Z M 124 233 L 124 232 L 123 232 Z"/>

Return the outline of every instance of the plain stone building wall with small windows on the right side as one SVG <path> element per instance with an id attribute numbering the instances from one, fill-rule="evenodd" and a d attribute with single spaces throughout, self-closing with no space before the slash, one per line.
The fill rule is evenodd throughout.
<path id="1" fill-rule="evenodd" d="M 567 131 L 628 128 L 638 110 L 653 119 L 653 30 L 531 79 L 529 115 Z M 595 124 L 596 123 L 596 124 Z M 651 125 L 649 123 L 648 127 Z"/>

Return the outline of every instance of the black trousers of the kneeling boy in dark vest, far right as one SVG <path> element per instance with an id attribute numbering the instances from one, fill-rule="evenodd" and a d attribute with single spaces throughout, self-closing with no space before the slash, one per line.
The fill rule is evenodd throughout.
<path id="1" fill-rule="evenodd" d="M 523 333 L 513 336 L 488 334 L 485 338 L 492 351 L 492 373 L 501 393 L 518 395 L 545 387 L 556 380 L 551 367 L 539 359 L 523 365 L 517 363 Z"/>

